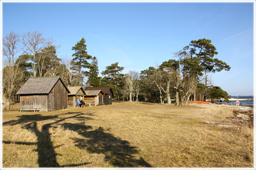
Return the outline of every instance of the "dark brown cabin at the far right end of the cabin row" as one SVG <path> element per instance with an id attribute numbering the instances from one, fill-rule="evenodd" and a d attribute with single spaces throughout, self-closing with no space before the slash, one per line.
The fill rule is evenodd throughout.
<path id="1" fill-rule="evenodd" d="M 84 90 L 101 90 L 104 94 L 103 104 L 105 105 L 112 104 L 112 97 L 114 96 L 114 93 L 111 87 L 86 87 Z"/>

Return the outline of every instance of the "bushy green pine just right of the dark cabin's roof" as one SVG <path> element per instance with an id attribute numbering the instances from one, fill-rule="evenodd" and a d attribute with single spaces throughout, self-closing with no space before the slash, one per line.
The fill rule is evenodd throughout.
<path id="1" fill-rule="evenodd" d="M 114 90 L 114 96 L 117 97 L 119 101 L 119 96 L 122 94 L 121 89 L 124 86 L 124 74 L 121 72 L 124 70 L 124 67 L 118 66 L 118 62 L 111 64 L 106 67 L 105 71 L 102 71 L 102 75 L 106 75 L 106 78 L 103 80 L 108 82 L 108 84 Z"/>

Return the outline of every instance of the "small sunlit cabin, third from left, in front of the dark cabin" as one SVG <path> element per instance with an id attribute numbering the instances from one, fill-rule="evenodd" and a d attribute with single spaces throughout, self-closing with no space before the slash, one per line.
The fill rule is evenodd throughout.
<path id="1" fill-rule="evenodd" d="M 84 90 L 86 96 L 84 96 L 85 106 L 89 106 L 89 103 L 92 106 L 102 105 L 103 104 L 103 92 L 101 90 Z"/>

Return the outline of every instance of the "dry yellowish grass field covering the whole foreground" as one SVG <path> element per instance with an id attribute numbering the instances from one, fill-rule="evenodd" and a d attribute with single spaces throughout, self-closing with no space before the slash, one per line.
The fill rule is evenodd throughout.
<path id="1" fill-rule="evenodd" d="M 253 128 L 226 107 L 4 112 L 3 167 L 253 167 Z"/>

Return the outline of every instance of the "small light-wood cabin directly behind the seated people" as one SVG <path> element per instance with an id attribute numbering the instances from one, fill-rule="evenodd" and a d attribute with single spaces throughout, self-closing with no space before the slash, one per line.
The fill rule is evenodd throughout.
<path id="1" fill-rule="evenodd" d="M 84 99 L 85 92 L 82 86 L 68 86 L 68 107 L 76 107 L 76 100 Z"/>

